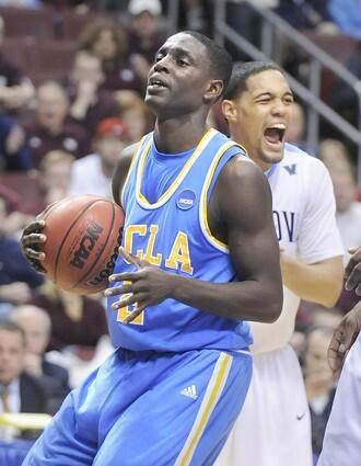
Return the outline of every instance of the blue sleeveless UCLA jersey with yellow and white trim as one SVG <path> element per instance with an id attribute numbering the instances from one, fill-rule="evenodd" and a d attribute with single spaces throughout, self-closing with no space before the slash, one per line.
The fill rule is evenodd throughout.
<path id="1" fill-rule="evenodd" d="M 147 135 L 123 191 L 125 249 L 188 279 L 235 281 L 228 247 L 211 235 L 208 226 L 207 203 L 222 167 L 242 154 L 240 146 L 214 129 L 206 133 L 195 150 L 178 155 L 158 152 L 153 134 Z M 121 257 L 117 259 L 115 273 L 132 270 L 132 264 Z M 117 297 L 108 298 L 107 317 L 116 348 L 161 352 L 241 350 L 252 342 L 246 322 L 175 299 L 149 306 L 131 323 L 123 325 L 132 307 L 114 310 L 115 300 Z"/>

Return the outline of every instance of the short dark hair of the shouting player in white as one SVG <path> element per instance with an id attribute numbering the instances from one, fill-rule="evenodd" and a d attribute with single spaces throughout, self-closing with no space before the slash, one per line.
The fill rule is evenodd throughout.
<path id="1" fill-rule="evenodd" d="M 248 78 L 267 70 L 280 71 L 286 77 L 282 68 L 273 61 L 245 61 L 235 64 L 223 99 L 233 100 L 238 98 L 247 89 Z"/>

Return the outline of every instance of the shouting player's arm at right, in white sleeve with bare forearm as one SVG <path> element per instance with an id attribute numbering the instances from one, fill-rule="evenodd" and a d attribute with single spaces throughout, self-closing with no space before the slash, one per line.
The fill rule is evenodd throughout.
<path id="1" fill-rule="evenodd" d="M 331 307 L 342 287 L 342 245 L 328 171 L 317 160 L 312 174 L 299 236 L 300 258 L 281 251 L 282 280 L 302 299 Z"/>

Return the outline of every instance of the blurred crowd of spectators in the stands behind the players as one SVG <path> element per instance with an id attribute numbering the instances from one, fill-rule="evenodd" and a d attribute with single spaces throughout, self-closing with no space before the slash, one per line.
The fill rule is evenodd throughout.
<path id="1" fill-rule="evenodd" d="M 211 34 L 213 3 L 180 2 L 179 29 Z M 339 5 L 343 1 L 256 3 L 275 9 L 298 27 L 329 34 L 342 32 L 351 35 L 356 44 L 360 39 L 360 7 L 352 18 L 346 14 L 346 7 L 341 15 Z M 152 127 L 153 116 L 142 98 L 154 54 L 166 36 L 167 7 L 167 2 L 159 0 L 0 0 L 0 317 L 8 322 L 0 325 L 0 376 L 8 341 L 2 337 L 13 333 L 15 341 L 20 327 L 25 334 L 24 345 L 18 342 L 19 357 L 9 376 L 21 374 L 26 378 L 32 387 L 28 390 L 39 398 L 34 409 L 42 412 L 53 414 L 70 388 L 109 354 L 112 345 L 102 297 L 57 289 L 35 273 L 21 253 L 21 230 L 47 204 L 67 195 L 112 197 L 110 178 L 119 152 Z M 18 12 L 46 11 L 44 18 L 50 19 L 56 44 L 48 55 L 42 48 L 42 37 L 16 37 L 11 8 Z M 247 5 L 241 1 L 234 2 L 234 8 L 238 9 L 234 21 L 256 43 L 259 29 L 248 21 Z M 69 30 L 66 23 L 73 29 Z M 39 25 L 37 29 L 42 31 Z M 37 52 L 34 47 L 38 47 Z M 361 76 L 360 49 L 359 45 L 354 47 L 348 62 L 357 76 Z M 24 50 L 25 55 L 31 54 L 28 59 L 22 55 Z M 62 54 L 61 59 L 57 53 Z M 31 60 L 34 62 L 27 66 Z M 302 60 L 295 64 L 286 56 L 282 65 L 296 73 L 301 64 Z M 354 122 L 354 99 L 340 83 L 335 86 L 338 91 L 333 94 L 334 104 Z M 329 134 L 317 147 L 310 147 L 305 120 L 305 107 L 295 103 L 287 138 L 324 161 L 334 182 L 337 223 L 345 248 L 361 245 L 361 195 L 350 149 Z M 218 106 L 209 124 L 226 132 Z M 343 292 L 331 310 L 302 303 L 299 311 L 292 344 L 304 368 L 315 454 L 322 447 L 336 387 L 326 349 L 333 330 L 354 300 L 352 293 Z M 22 402 L 15 408 L 30 409 Z"/>

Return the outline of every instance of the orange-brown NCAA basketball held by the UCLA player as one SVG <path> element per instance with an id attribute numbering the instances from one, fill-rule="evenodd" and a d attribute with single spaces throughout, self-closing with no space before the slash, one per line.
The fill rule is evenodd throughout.
<path id="1" fill-rule="evenodd" d="M 93 195 L 67 197 L 50 204 L 45 220 L 42 265 L 58 287 L 92 294 L 108 286 L 121 242 L 124 212 L 114 202 Z"/>

